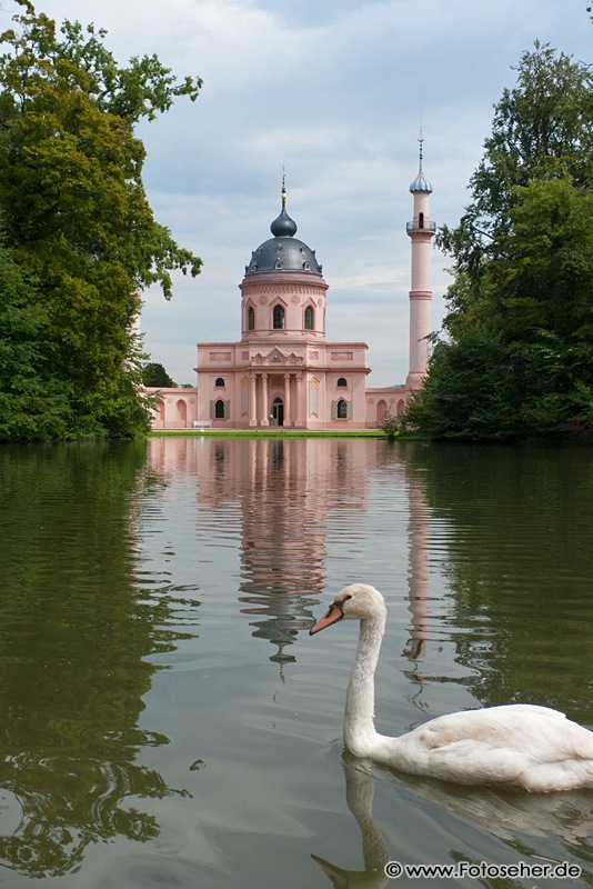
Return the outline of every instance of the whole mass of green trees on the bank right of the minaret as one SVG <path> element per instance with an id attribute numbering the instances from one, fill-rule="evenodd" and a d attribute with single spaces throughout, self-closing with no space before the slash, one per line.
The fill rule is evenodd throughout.
<path id="1" fill-rule="evenodd" d="M 473 201 L 439 236 L 449 313 L 405 418 L 432 437 L 593 433 L 591 80 L 535 43 L 495 106 Z"/>

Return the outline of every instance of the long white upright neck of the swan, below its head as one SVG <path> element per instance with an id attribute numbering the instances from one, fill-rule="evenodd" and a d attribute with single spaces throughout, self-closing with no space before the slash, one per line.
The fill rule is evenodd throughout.
<path id="1" fill-rule="evenodd" d="M 361 620 L 344 715 L 344 743 L 360 757 L 370 756 L 381 741 L 374 728 L 374 672 L 384 631 L 384 615 Z"/>

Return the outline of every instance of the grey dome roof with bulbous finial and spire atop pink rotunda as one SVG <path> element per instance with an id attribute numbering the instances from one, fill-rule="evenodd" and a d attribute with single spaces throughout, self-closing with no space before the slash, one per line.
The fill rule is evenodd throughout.
<path id="1" fill-rule="evenodd" d="M 322 267 L 303 241 L 294 237 L 296 222 L 287 212 L 287 192 L 282 189 L 282 210 L 270 226 L 274 236 L 260 244 L 251 254 L 245 276 L 262 271 L 301 271 L 321 274 Z"/>

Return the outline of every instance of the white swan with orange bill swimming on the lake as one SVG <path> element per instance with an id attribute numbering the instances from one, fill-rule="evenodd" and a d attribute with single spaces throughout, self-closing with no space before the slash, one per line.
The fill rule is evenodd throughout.
<path id="1" fill-rule="evenodd" d="M 385 600 L 365 583 L 344 587 L 310 633 L 342 619 L 360 620 L 344 715 L 344 743 L 352 753 L 462 785 L 537 791 L 593 787 L 593 732 L 547 707 L 516 703 L 464 710 L 431 719 L 399 738 L 379 735 L 374 672 L 385 629 Z"/>

